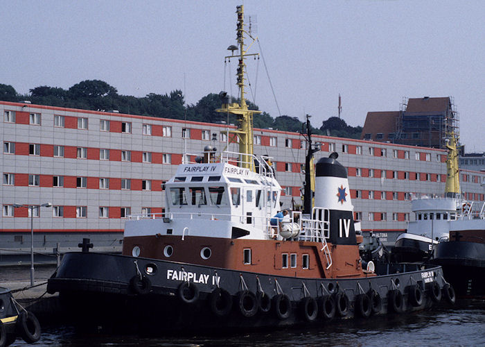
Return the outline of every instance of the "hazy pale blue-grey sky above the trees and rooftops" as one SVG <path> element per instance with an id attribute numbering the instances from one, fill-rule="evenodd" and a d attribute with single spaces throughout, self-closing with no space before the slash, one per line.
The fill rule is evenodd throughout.
<path id="1" fill-rule="evenodd" d="M 239 4 L 265 62 L 247 60 L 260 110 L 319 127 L 340 94 L 342 118 L 363 126 L 403 98 L 452 96 L 466 152 L 485 151 L 484 1 L 0 0 L 0 83 L 25 94 L 100 79 L 123 95 L 179 89 L 188 104 L 237 94 L 224 56 Z"/>

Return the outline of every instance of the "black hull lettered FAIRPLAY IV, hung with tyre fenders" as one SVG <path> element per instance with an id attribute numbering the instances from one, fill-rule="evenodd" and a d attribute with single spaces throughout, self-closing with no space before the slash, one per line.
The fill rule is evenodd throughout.
<path id="1" fill-rule="evenodd" d="M 130 280 L 137 278 L 135 261 L 143 276 L 150 280 L 150 290 L 144 293 L 134 290 L 130 285 Z M 156 271 L 148 275 L 145 273 L 147 266 Z M 184 278 L 179 276 L 182 274 L 183 277 L 184 271 L 199 293 L 194 303 L 186 303 L 180 298 L 178 289 L 184 283 Z M 384 314 L 391 310 L 388 297 L 393 289 L 398 289 L 403 296 L 399 312 L 422 310 L 432 305 L 430 286 L 434 282 L 439 288 L 444 285 L 443 271 L 439 266 L 419 269 L 415 264 L 387 264 L 378 271 L 389 274 L 322 280 L 268 276 L 122 255 L 68 253 L 58 271 L 48 280 L 48 291 L 60 292 L 61 302 L 76 325 L 152 333 L 211 333 L 222 328 L 227 331 L 308 324 L 308 316 L 302 306 L 306 296 L 315 298 L 321 312 L 320 302 L 324 296 L 336 298 L 338 293 L 345 294 L 349 299 L 347 310 L 340 316 L 362 316 L 355 301 L 359 294 L 366 294 L 370 289 L 376 290 L 382 299 L 380 310 L 374 314 Z M 224 316 L 218 316 L 211 307 L 211 292 L 218 287 L 216 278 L 220 278 L 220 288 L 230 294 L 231 309 Z M 419 305 L 412 305 L 409 301 L 409 287 L 412 285 L 422 289 L 423 301 Z M 262 290 L 272 298 L 271 310 L 258 310 L 254 316 L 244 316 L 240 310 L 238 293 L 246 288 L 254 294 Z M 282 318 L 276 313 L 274 300 L 277 294 L 285 294 L 290 299 L 288 317 Z M 335 314 L 335 318 L 338 316 Z M 319 314 L 315 322 L 321 323 L 324 318 L 328 319 Z"/>

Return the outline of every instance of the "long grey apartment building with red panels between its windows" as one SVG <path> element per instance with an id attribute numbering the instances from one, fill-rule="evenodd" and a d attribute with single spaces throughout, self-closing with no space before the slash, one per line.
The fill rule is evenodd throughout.
<path id="1" fill-rule="evenodd" d="M 183 160 L 194 158 L 184 153 L 200 153 L 207 144 L 238 149 L 222 124 L 6 101 L 0 101 L 0 112 L 0 261 L 30 247 L 31 221 L 36 251 L 48 253 L 58 243 L 62 251 L 77 249 L 82 237 L 100 251 L 119 251 L 127 216 L 164 212 L 164 181 Z M 317 159 L 339 154 L 349 173 L 355 219 L 384 239 L 414 220 L 412 194 L 444 192 L 444 150 L 318 135 L 314 141 L 321 144 Z M 254 144 L 256 154 L 274 158 L 284 207 L 301 204 L 303 137 L 255 129 Z M 484 182 L 484 172 L 461 171 L 470 200 L 484 201 Z M 44 203 L 52 207 L 14 206 Z"/>

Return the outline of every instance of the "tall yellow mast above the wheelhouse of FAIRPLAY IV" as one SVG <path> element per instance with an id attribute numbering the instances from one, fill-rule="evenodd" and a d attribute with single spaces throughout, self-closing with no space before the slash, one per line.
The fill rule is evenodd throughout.
<path id="1" fill-rule="evenodd" d="M 243 153 L 241 155 L 242 158 L 240 158 L 240 167 L 245 167 L 248 169 L 252 169 L 254 171 L 254 162 L 252 160 L 251 155 L 253 154 L 253 115 L 261 113 L 261 111 L 255 111 L 255 110 L 248 110 L 247 104 L 246 104 L 246 99 L 245 99 L 245 63 L 244 60 L 246 59 L 247 56 L 258 56 L 258 53 L 254 54 L 247 54 L 247 51 L 249 50 L 249 47 L 251 44 L 245 48 L 244 44 L 244 34 L 247 33 L 244 28 L 244 6 L 240 5 L 236 7 L 236 13 L 238 14 L 238 26 L 236 29 L 236 35 L 237 35 L 237 42 L 239 44 L 239 54 L 234 55 L 234 53 L 231 54 L 231 56 L 227 56 L 225 58 L 238 58 L 239 63 L 238 63 L 238 73 L 236 76 L 238 76 L 238 83 L 236 83 L 239 87 L 239 99 L 240 99 L 240 104 L 238 103 L 222 103 L 221 108 L 218 110 L 215 110 L 216 112 L 222 112 L 222 113 L 231 113 L 232 115 L 236 115 L 238 119 L 238 128 L 236 130 L 229 130 L 229 133 L 231 134 L 236 134 L 236 136 L 239 138 L 239 152 Z M 247 33 L 249 37 L 251 35 Z M 253 40 L 253 43 L 255 39 L 251 37 Z M 232 49 L 233 48 L 233 49 Z M 237 48 L 236 46 L 229 46 L 229 49 L 231 51 L 235 51 Z M 228 101 L 228 99 L 226 99 Z M 247 155 L 245 155 L 247 154 Z"/>

